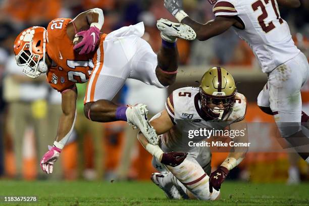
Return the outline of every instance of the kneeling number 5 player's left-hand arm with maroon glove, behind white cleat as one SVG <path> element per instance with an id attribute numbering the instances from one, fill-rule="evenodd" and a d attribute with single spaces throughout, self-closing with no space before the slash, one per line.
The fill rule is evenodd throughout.
<path id="1" fill-rule="evenodd" d="M 150 124 L 156 129 L 158 135 L 164 134 L 174 126 L 166 110 L 155 115 L 150 120 Z M 137 138 L 143 147 L 162 164 L 176 167 L 187 157 L 188 153 L 184 152 L 163 152 L 159 145 L 150 144 L 141 132 L 138 133 Z"/>

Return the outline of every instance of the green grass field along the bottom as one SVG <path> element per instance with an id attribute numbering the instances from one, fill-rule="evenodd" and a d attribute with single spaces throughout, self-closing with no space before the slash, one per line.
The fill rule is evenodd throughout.
<path id="1" fill-rule="evenodd" d="M 309 205 L 309 184 L 225 182 L 221 200 L 169 200 L 151 182 L 0 181 L 0 205 Z M 3 196 L 36 196 L 37 202 L 5 203 Z"/>

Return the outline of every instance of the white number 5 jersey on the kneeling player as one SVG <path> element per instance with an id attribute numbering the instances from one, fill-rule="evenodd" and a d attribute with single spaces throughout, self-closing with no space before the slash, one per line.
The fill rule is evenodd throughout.
<path id="1" fill-rule="evenodd" d="M 205 114 L 200 105 L 199 88 L 183 87 L 171 93 L 166 101 L 166 110 L 175 124 L 172 129 L 162 136 L 164 150 L 189 151 L 189 130 L 200 128 L 224 129 L 234 122 L 241 121 L 246 113 L 246 98 L 241 93 L 236 93 L 235 103 L 230 114 L 223 120 L 215 120 Z M 194 142 L 205 137 L 194 137 Z"/>

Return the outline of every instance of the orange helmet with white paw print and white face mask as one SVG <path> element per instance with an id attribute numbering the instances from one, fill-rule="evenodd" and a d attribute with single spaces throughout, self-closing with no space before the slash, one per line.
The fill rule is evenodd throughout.
<path id="1" fill-rule="evenodd" d="M 23 30 L 15 39 L 14 53 L 18 66 L 31 78 L 47 72 L 45 63 L 47 31 L 44 27 L 33 26 Z"/>

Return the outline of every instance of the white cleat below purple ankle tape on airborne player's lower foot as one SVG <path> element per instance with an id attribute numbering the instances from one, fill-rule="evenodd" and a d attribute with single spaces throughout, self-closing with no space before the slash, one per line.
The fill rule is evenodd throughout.
<path id="1" fill-rule="evenodd" d="M 133 128 L 140 129 L 150 144 L 157 145 L 159 143 L 159 136 L 156 130 L 149 124 L 147 114 L 147 107 L 143 104 L 130 106 L 126 110 L 128 123 L 133 125 Z"/>

